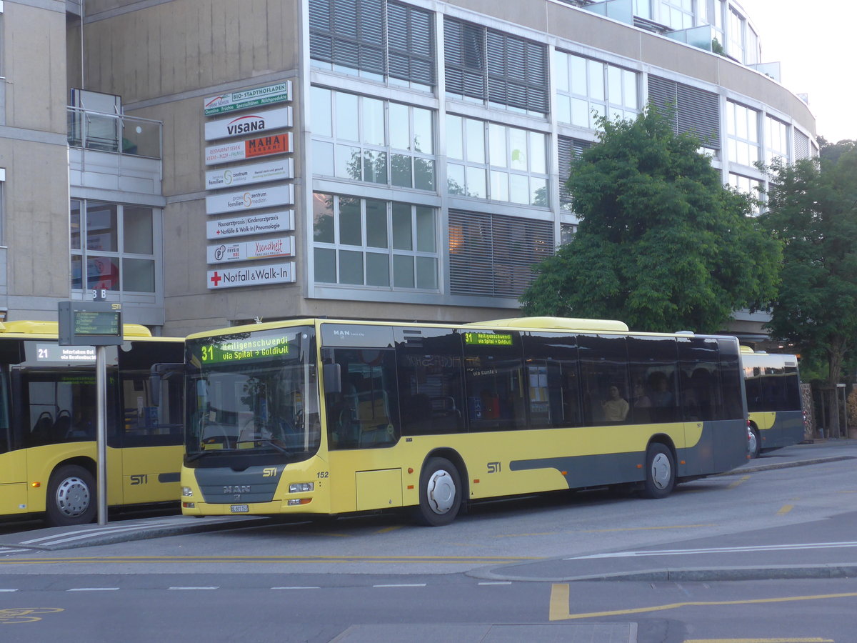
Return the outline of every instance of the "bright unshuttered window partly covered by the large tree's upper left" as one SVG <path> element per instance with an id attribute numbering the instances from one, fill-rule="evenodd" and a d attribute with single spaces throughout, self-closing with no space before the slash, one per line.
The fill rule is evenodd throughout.
<path id="1" fill-rule="evenodd" d="M 590 58 L 555 51 L 556 119 L 598 129 L 596 117 L 633 118 L 639 113 L 637 73 Z"/>

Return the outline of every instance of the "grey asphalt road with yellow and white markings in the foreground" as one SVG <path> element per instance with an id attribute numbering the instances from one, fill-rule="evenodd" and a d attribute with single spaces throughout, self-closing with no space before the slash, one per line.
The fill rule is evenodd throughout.
<path id="1" fill-rule="evenodd" d="M 855 467 L 857 442 L 796 445 L 662 501 L 526 497 L 441 528 L 7 526 L 0 640 L 853 642 Z"/>

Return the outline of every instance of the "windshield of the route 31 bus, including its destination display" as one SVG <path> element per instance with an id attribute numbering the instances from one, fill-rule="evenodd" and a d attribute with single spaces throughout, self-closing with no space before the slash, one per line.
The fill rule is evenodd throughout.
<path id="1" fill-rule="evenodd" d="M 186 461 L 239 455 L 303 460 L 319 448 L 318 385 L 309 327 L 187 342 Z"/>

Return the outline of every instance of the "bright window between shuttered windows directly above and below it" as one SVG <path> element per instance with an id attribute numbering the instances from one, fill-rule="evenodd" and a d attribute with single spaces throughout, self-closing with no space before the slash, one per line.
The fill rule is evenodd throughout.
<path id="1" fill-rule="evenodd" d="M 447 191 L 548 207 L 547 136 L 446 115 Z"/>

